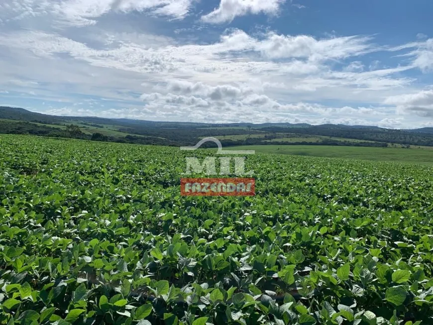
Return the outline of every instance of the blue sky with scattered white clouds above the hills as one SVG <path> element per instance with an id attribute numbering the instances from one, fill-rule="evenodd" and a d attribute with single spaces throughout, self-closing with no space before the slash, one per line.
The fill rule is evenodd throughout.
<path id="1" fill-rule="evenodd" d="M 433 126 L 432 0 L 1 0 L 0 106 Z"/>

